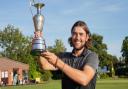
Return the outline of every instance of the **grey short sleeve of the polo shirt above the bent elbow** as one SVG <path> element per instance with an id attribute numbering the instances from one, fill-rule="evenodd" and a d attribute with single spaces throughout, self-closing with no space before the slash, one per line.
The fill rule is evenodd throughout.
<path id="1" fill-rule="evenodd" d="M 98 55 L 94 52 L 90 53 L 87 56 L 86 65 L 91 66 L 93 69 L 97 70 L 99 65 L 99 58 Z"/>

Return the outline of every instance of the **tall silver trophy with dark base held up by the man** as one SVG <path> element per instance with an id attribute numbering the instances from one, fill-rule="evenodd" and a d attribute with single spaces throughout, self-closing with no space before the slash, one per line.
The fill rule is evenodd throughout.
<path id="1" fill-rule="evenodd" d="M 35 32 L 32 40 L 31 54 L 38 56 L 41 52 L 46 50 L 45 40 L 43 39 L 44 16 L 41 14 L 41 8 L 44 6 L 44 4 L 34 3 L 32 6 L 37 9 L 37 14 L 33 16 Z"/>

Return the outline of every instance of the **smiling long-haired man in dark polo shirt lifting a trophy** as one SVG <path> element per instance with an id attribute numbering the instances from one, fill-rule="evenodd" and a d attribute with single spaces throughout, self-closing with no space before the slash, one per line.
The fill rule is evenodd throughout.
<path id="1" fill-rule="evenodd" d="M 56 56 L 51 52 L 41 53 L 39 63 L 45 70 L 61 70 L 62 89 L 95 89 L 98 56 L 88 48 L 91 45 L 90 31 L 83 21 L 77 21 L 71 29 L 69 43 L 72 52 Z"/>

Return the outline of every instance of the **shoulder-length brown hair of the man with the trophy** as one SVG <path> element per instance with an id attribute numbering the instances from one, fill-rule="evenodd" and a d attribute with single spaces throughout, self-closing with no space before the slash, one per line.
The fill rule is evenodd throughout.
<path id="1" fill-rule="evenodd" d="M 85 43 L 85 47 L 86 48 L 91 47 L 91 45 L 92 45 L 91 33 L 89 31 L 89 28 L 88 28 L 87 24 L 84 21 L 75 22 L 74 25 L 71 28 L 71 34 L 73 33 L 74 28 L 77 27 L 77 26 L 82 27 L 84 29 L 84 31 L 86 32 L 86 34 L 89 36 L 88 41 Z M 72 37 L 69 37 L 68 42 L 69 42 L 70 46 L 72 47 L 73 46 Z"/>

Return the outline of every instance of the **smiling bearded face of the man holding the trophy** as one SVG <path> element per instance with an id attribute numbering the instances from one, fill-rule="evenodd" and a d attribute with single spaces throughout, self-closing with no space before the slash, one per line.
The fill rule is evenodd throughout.
<path id="1" fill-rule="evenodd" d="M 77 26 L 73 29 L 72 32 L 72 44 L 73 47 L 77 50 L 84 48 L 86 41 L 88 40 L 88 35 L 84 29 L 80 26 Z"/>

